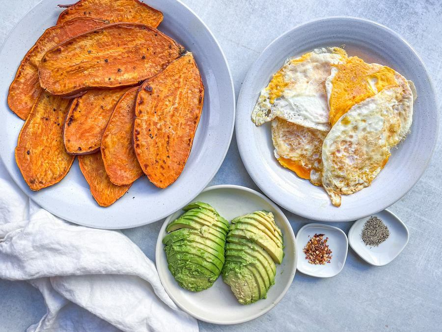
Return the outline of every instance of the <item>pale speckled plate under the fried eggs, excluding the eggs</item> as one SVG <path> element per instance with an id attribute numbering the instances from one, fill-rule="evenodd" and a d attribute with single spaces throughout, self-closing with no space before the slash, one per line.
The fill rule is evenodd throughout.
<path id="1" fill-rule="evenodd" d="M 392 151 L 386 167 L 371 186 L 343 196 L 340 208 L 331 205 L 321 187 L 298 178 L 273 156 L 270 123 L 256 127 L 250 114 L 261 89 L 288 57 L 318 47 L 345 44 L 349 55 L 386 64 L 412 80 L 414 103 L 411 134 Z M 413 48 L 394 31 L 350 17 L 331 17 L 299 26 L 271 43 L 251 66 L 238 98 L 236 138 L 241 158 L 255 183 L 283 208 L 321 221 L 350 221 L 384 210 L 419 180 L 436 145 L 438 107 L 428 72 Z"/>

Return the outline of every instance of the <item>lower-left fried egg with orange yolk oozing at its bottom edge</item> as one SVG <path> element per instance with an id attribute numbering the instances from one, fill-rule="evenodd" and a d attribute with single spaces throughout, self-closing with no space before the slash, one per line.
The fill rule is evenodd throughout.
<path id="1" fill-rule="evenodd" d="M 272 141 L 279 163 L 302 179 L 321 185 L 322 144 L 327 132 L 306 128 L 276 118 L 272 121 Z"/>

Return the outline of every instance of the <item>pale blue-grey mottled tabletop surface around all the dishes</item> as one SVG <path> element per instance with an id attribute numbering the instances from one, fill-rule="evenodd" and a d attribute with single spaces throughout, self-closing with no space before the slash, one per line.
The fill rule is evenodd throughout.
<path id="1" fill-rule="evenodd" d="M 38 1 L 0 0 L 0 43 Z M 348 15 L 382 23 L 407 39 L 426 63 L 437 95 L 442 96 L 440 0 L 183 2 L 199 15 L 220 42 L 232 71 L 236 95 L 251 63 L 278 35 L 315 18 Z M 441 160 L 442 148 L 438 145 L 422 179 L 390 208 L 410 230 L 408 246 L 392 263 L 385 267 L 372 267 L 349 248 L 346 265 L 337 276 L 318 279 L 297 273 L 286 296 L 266 315 L 236 326 L 200 323 L 201 330 L 439 330 L 442 326 Z M 1 167 L 0 171 L 3 171 Z M 221 183 L 241 184 L 257 189 L 241 162 L 235 138 L 220 171 L 211 182 Z M 287 217 L 295 234 L 308 222 L 288 212 Z M 154 259 L 155 242 L 161 224 L 156 222 L 125 231 L 125 234 L 149 258 Z M 347 232 L 351 223 L 340 223 L 337 226 Z M 0 280 L 0 331 L 24 331 L 44 314 L 43 299 L 36 289 L 25 282 Z"/>

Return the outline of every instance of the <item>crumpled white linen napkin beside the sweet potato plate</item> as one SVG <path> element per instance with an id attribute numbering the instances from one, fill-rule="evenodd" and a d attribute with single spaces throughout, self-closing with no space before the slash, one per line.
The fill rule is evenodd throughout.
<path id="1" fill-rule="evenodd" d="M 27 280 L 47 306 L 28 331 L 198 331 L 129 238 L 39 209 L 1 171 L 0 278 Z"/>

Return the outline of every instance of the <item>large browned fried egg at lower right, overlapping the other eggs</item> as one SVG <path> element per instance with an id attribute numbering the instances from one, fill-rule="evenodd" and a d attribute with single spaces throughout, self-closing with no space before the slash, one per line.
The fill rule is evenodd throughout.
<path id="1" fill-rule="evenodd" d="M 334 206 L 340 206 L 341 195 L 369 186 L 386 165 L 390 149 L 409 131 L 413 96 L 411 104 L 404 98 L 409 96 L 404 97 L 402 86 L 384 88 L 332 126 L 322 145 L 322 184 Z M 408 121 L 404 128 L 402 118 Z"/>

